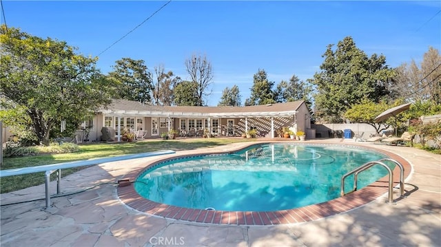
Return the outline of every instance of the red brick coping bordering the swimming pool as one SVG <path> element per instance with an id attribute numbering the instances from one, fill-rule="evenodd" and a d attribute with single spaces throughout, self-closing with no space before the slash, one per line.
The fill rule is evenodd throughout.
<path id="1" fill-rule="evenodd" d="M 256 143 L 252 143 L 256 144 Z M 252 145 L 250 144 L 250 145 Z M 308 144 L 318 144 L 309 142 Z M 400 155 L 376 149 L 374 147 L 360 146 L 357 144 L 323 144 L 319 145 L 338 145 L 345 147 L 362 147 L 365 149 L 371 149 L 378 151 L 389 156 L 389 158 L 396 160 L 404 167 L 404 178 L 407 178 L 411 171 L 411 165 L 404 160 Z M 406 147 L 402 147 L 406 148 Z M 207 154 L 216 152 L 199 152 L 198 154 Z M 217 152 L 222 153 L 222 152 Z M 186 155 L 175 155 L 172 158 L 161 158 L 149 162 L 147 167 L 142 169 L 136 169 L 125 175 L 125 179 L 130 181 L 136 180 L 137 176 L 148 169 L 154 164 L 157 164 L 161 160 L 175 159 L 177 157 Z M 205 224 L 223 224 L 223 225 L 249 225 L 249 226 L 266 226 L 266 225 L 278 225 L 278 224 L 295 224 L 301 222 L 310 222 L 316 219 L 321 219 L 331 215 L 337 215 L 350 211 L 354 208 L 358 208 L 365 205 L 378 197 L 388 193 L 388 176 L 384 176 L 380 180 L 373 182 L 369 186 L 366 186 L 359 191 L 354 191 L 343 197 L 338 197 L 328 202 L 322 202 L 319 204 L 313 204 L 309 206 L 303 206 L 301 208 L 287 209 L 281 211 L 212 211 L 194 208 L 181 208 L 178 206 L 172 206 L 167 204 L 161 204 L 147 200 L 134 189 L 133 184 L 128 186 L 119 186 L 117 193 L 121 202 L 127 206 L 134 208 L 136 211 L 147 213 L 150 215 L 156 215 L 159 217 L 165 217 L 169 219 L 178 219 L 188 222 L 199 222 Z M 400 182 L 400 169 L 398 166 L 393 170 L 393 185 L 397 186 Z M 395 194 L 395 193 L 394 193 Z M 394 201 L 398 199 L 395 195 Z M 386 200 L 386 199 L 385 199 Z"/>

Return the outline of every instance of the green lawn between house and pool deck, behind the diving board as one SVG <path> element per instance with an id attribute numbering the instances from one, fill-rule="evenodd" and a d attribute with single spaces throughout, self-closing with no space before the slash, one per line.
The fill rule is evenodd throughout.
<path id="1" fill-rule="evenodd" d="M 256 139 L 254 139 L 256 140 Z M 88 160 L 91 158 L 104 158 L 111 156 L 127 155 L 133 153 L 145 153 L 171 149 L 174 151 L 217 147 L 234 142 L 247 142 L 250 139 L 243 138 L 207 138 L 207 139 L 183 139 L 183 140 L 147 140 L 142 142 L 125 142 L 114 144 L 84 144 L 79 146 L 75 153 L 46 154 L 25 156 L 17 158 L 3 158 L 1 170 L 17 169 L 22 167 L 34 167 L 43 164 L 56 164 L 76 160 Z M 87 167 L 63 169 L 64 177 Z M 52 174 L 53 178 L 55 173 Z M 53 179 L 52 178 L 52 179 Z M 8 193 L 19 189 L 28 188 L 44 183 L 44 173 L 30 173 L 1 178 L 0 193 Z"/>

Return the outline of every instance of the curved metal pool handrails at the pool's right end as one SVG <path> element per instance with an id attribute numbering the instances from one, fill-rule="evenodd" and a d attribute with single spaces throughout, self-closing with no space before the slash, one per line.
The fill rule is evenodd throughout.
<path id="1" fill-rule="evenodd" d="M 354 174 L 353 175 L 353 190 L 348 192 L 348 193 L 352 193 L 353 191 L 357 190 L 358 173 L 361 173 L 362 171 L 365 171 L 365 170 L 375 166 L 376 164 L 379 164 L 380 166 L 387 169 L 387 173 L 389 173 L 389 200 L 388 200 L 388 203 L 393 204 L 393 171 L 386 164 L 384 164 L 384 161 L 393 162 L 398 167 L 400 167 L 400 196 L 405 197 L 404 196 L 404 167 L 402 167 L 402 164 L 400 164 L 400 162 L 398 162 L 396 160 L 389 159 L 389 158 L 384 158 L 384 159 L 377 160 L 377 161 L 367 162 L 366 164 L 363 164 L 361 167 L 357 167 L 356 169 L 353 169 L 349 173 L 346 173 L 345 175 L 343 175 L 342 180 L 341 180 L 340 195 L 343 196 L 343 195 L 347 194 L 347 193 L 345 193 L 345 178 L 347 178 L 351 174 Z"/>

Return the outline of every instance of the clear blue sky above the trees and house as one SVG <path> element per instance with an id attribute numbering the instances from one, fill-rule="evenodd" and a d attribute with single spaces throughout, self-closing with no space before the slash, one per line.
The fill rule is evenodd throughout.
<path id="1" fill-rule="evenodd" d="M 7 1 L 1 23 L 34 36 L 66 41 L 98 56 L 167 1 Z M 238 85 L 242 103 L 253 75 L 265 69 L 276 84 L 293 74 L 312 78 L 327 45 L 352 36 L 387 65 L 419 63 L 441 50 L 441 1 L 172 1 L 99 55 L 101 72 L 123 57 L 142 59 L 187 79 L 184 62 L 206 55 L 214 80 L 208 105 Z"/>

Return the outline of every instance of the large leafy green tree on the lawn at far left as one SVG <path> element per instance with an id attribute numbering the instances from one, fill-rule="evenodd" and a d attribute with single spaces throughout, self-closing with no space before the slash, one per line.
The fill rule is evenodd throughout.
<path id="1" fill-rule="evenodd" d="M 1 26 L 0 97 L 4 114 L 22 115 L 37 140 L 50 142 L 61 120 L 79 120 L 111 102 L 113 85 L 97 58 L 76 54 L 64 41 L 41 39 Z M 25 114 L 26 116 L 24 116 Z"/>

